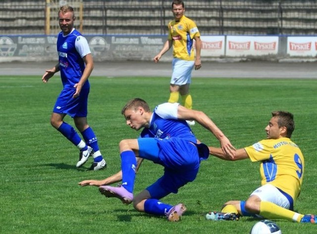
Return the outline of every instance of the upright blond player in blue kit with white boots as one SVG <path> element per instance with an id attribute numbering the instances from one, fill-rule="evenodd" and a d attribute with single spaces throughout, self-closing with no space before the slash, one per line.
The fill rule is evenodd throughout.
<path id="1" fill-rule="evenodd" d="M 100 152 L 97 137 L 87 122 L 90 91 L 88 77 L 94 68 L 93 57 L 87 40 L 74 28 L 74 9 L 67 5 L 61 6 L 58 20 L 61 29 L 57 37 L 58 63 L 52 69 L 46 70 L 42 77 L 42 81 L 47 83 L 60 71 L 63 84 L 63 90 L 53 108 L 51 124 L 79 148 L 76 167 L 81 167 L 92 155 L 94 162 L 89 170 L 97 171 L 106 168 L 106 161 Z M 75 126 L 84 140 L 71 125 L 63 121 L 66 114 L 74 119 Z"/>

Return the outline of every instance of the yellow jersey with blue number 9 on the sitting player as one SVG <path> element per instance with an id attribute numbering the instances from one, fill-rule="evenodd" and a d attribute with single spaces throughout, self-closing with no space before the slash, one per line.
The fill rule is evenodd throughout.
<path id="1" fill-rule="evenodd" d="M 261 161 L 261 184 L 271 184 L 295 201 L 304 175 L 304 156 L 297 144 L 288 138 L 267 139 L 244 149 L 252 162 Z"/>

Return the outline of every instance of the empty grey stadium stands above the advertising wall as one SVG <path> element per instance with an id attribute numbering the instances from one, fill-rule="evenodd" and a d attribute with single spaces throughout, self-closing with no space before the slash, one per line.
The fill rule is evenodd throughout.
<path id="1" fill-rule="evenodd" d="M 74 0 L 1 0 L 0 34 L 56 34 L 47 7 Z M 86 35 L 164 35 L 171 0 L 79 0 Z M 48 3 L 49 2 L 49 3 Z M 186 16 L 202 35 L 316 35 L 317 0 L 185 0 Z M 49 5 L 48 5 L 49 4 Z M 56 18 L 56 17 L 55 17 Z M 80 25 L 79 25 L 80 24 Z M 47 27 L 51 30 L 46 30 Z M 57 27 L 56 27 L 57 26 Z"/>

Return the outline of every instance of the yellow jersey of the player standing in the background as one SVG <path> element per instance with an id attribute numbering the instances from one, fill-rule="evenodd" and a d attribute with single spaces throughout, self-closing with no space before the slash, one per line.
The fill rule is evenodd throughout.
<path id="1" fill-rule="evenodd" d="M 168 23 L 168 40 L 173 41 L 173 56 L 182 60 L 193 61 L 193 39 L 200 37 L 195 22 L 185 15 L 179 21 L 172 20 Z"/>

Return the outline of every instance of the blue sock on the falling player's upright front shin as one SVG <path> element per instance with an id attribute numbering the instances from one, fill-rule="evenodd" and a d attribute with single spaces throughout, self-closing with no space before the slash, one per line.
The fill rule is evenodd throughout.
<path id="1" fill-rule="evenodd" d="M 122 170 L 122 186 L 129 192 L 133 192 L 135 170 L 137 167 L 137 159 L 132 150 L 123 151 L 121 156 L 121 170 Z"/>

